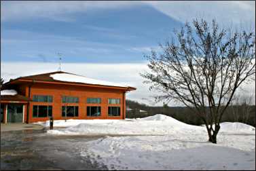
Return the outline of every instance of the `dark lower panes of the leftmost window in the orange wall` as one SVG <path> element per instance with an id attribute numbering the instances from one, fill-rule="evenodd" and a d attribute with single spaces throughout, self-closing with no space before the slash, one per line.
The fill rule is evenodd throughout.
<path id="1" fill-rule="evenodd" d="M 33 105 L 33 117 L 51 117 L 52 106 Z"/>

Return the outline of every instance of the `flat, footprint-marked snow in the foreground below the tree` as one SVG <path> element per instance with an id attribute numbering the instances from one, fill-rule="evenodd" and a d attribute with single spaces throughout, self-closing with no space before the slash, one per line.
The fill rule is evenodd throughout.
<path id="1" fill-rule="evenodd" d="M 240 151 L 204 143 L 173 149 L 173 140 L 148 137 L 107 137 L 88 143 L 92 162 L 103 163 L 109 170 L 255 170 L 255 151 Z M 146 139 L 146 138 L 145 138 Z M 168 141 L 166 141 L 168 140 Z M 169 145 L 170 142 L 170 145 Z"/>

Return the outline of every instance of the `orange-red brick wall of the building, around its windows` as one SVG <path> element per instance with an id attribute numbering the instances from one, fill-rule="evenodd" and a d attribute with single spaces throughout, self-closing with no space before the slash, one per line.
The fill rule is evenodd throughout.
<path id="1" fill-rule="evenodd" d="M 33 95 L 50 95 L 53 102 L 30 102 L 29 104 L 29 122 L 46 121 L 48 117 L 33 117 L 33 105 L 52 105 L 52 116 L 54 119 L 65 119 L 62 117 L 62 106 L 78 106 L 78 117 L 67 117 L 67 119 L 124 119 L 125 118 L 125 92 L 123 90 L 107 89 L 107 88 L 88 88 L 84 86 L 64 86 L 64 85 L 46 85 L 42 83 L 34 83 L 31 86 L 31 99 Z M 26 96 L 29 96 L 29 88 L 26 88 Z M 62 103 L 62 96 L 76 96 L 79 103 Z M 87 104 L 87 98 L 101 98 L 101 104 Z M 108 98 L 120 98 L 120 104 L 108 104 Z M 87 106 L 100 106 L 100 117 L 88 117 Z M 120 116 L 108 116 L 108 107 L 120 107 Z"/>

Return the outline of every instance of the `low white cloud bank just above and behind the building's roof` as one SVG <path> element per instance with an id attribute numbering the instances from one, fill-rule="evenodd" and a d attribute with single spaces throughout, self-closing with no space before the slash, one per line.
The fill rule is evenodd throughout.
<path id="1" fill-rule="evenodd" d="M 1 77 L 5 81 L 26 75 L 49 73 L 57 71 L 58 63 L 49 62 L 3 62 L 1 61 Z M 137 88 L 126 95 L 130 100 L 136 100 L 149 105 L 162 106 L 162 102 L 156 104 L 153 96 L 159 94 L 149 91 L 149 86 L 143 83 L 140 73 L 149 71 L 147 63 L 122 63 L 122 64 L 95 64 L 95 63 L 63 63 L 62 71 L 77 73 L 94 79 L 112 81 Z M 255 97 L 255 81 L 242 86 L 242 94 Z M 253 98 L 255 104 L 255 98 Z M 179 104 L 169 103 L 169 106 Z"/>

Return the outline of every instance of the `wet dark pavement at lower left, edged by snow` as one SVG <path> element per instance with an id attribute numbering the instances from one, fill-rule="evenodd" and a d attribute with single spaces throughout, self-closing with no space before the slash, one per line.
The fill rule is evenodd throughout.
<path id="1" fill-rule="evenodd" d="M 102 136 L 54 136 L 45 130 L 1 132 L 1 170 L 107 170 L 81 157 L 86 143 Z"/>

